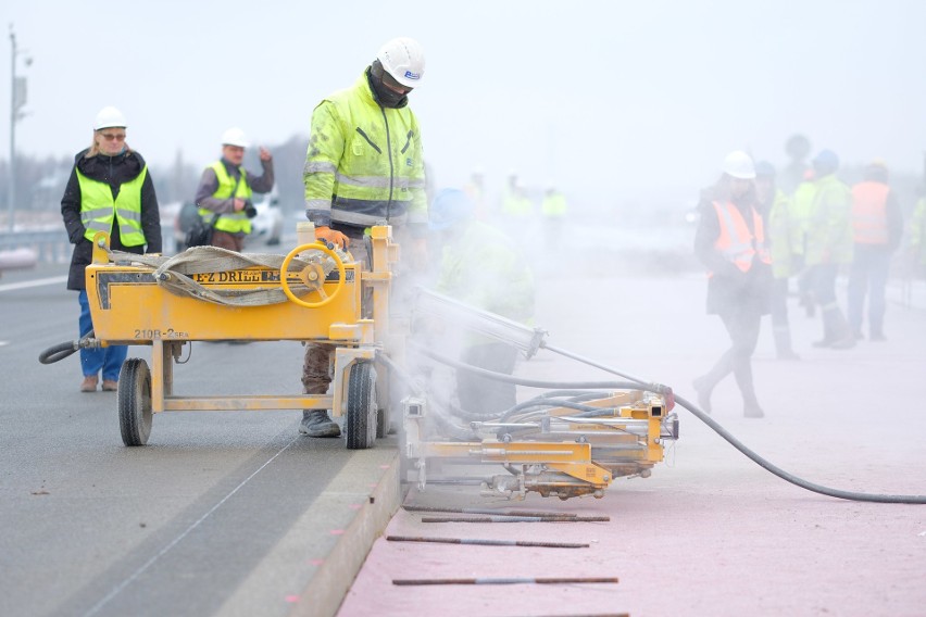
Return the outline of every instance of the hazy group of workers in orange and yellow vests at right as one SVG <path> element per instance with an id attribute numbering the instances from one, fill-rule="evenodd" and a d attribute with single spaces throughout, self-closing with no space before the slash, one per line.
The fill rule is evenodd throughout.
<path id="1" fill-rule="evenodd" d="M 836 153 L 823 150 L 811 167 L 799 171 L 801 179 L 788 194 L 776 186 L 771 163 L 735 151 L 724 160 L 719 180 L 702 194 L 694 250 L 709 270 L 708 313 L 719 316 L 731 342 L 694 380 L 704 411 L 711 411 L 714 387 L 733 374 L 743 415 L 763 417 L 751 356 L 762 315 L 771 313 L 777 357 L 798 358 L 787 308 L 792 278 L 799 278 L 802 303 L 819 307 L 823 337 L 814 347 L 850 349 L 866 333 L 871 341 L 886 340 L 886 287 L 903 236 L 903 213 L 883 161 L 866 165 L 863 179 L 851 187 L 838 171 Z M 926 198 L 911 229 L 910 244 L 926 265 Z M 844 314 L 836 291 L 840 273 L 848 274 Z"/>

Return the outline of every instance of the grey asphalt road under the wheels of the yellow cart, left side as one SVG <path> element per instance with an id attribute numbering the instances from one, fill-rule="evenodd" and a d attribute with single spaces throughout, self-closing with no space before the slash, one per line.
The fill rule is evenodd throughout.
<path id="1" fill-rule="evenodd" d="M 298 412 L 172 412 L 124 446 L 116 394 L 78 392 L 78 355 L 37 360 L 76 338 L 65 273 L 0 278 L 0 615 L 330 614 L 368 546 L 356 533 L 372 542 L 395 508 L 395 439 L 351 452 L 300 437 Z M 193 343 L 175 391 L 298 393 L 301 357 Z"/>

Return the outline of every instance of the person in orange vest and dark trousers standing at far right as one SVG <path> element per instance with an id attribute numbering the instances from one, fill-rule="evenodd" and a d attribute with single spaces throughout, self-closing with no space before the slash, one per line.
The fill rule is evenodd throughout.
<path id="1" fill-rule="evenodd" d="M 885 289 L 891 254 L 903 237 L 903 212 L 888 186 L 883 161 L 865 167 L 865 179 L 852 187 L 852 232 L 855 241 L 849 269 L 849 326 L 862 336 L 862 314 L 868 294 L 868 339 L 884 341 Z"/>

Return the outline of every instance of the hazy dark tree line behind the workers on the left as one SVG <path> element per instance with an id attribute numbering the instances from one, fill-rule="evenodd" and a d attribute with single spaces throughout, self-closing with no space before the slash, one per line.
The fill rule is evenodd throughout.
<path id="1" fill-rule="evenodd" d="M 280 206 L 286 212 L 302 207 L 302 167 L 305 163 L 308 138 L 295 135 L 284 143 L 270 147 L 274 159 L 276 188 Z M 145 150 L 140 149 L 141 155 Z M 202 171 L 212 161 L 190 162 L 178 151 L 173 164 L 157 165 L 149 162 L 158 201 L 162 204 L 192 201 Z M 16 156 L 17 212 L 57 213 L 61 209 L 64 187 L 74 166 L 74 156 L 47 156 L 45 159 L 20 154 Z M 251 148 L 245 156 L 245 167 L 260 174 L 258 149 Z M 9 161 L 0 161 L 0 201 L 8 207 L 5 196 L 10 182 Z"/>

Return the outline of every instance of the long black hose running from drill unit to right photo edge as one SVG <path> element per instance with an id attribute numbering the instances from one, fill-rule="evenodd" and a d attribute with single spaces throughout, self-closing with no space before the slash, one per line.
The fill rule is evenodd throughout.
<path id="1" fill-rule="evenodd" d="M 517 383 L 517 385 L 521 385 L 521 386 L 530 386 L 530 387 L 534 387 L 534 388 L 543 388 L 543 387 L 546 387 L 546 388 L 575 388 L 575 389 L 580 389 L 580 388 L 585 388 L 585 387 L 588 387 L 588 388 L 620 388 L 620 389 L 624 389 L 624 390 L 645 390 L 645 391 L 656 392 L 656 393 L 663 393 L 666 390 L 670 390 L 665 386 L 662 386 L 660 383 L 649 383 L 649 382 L 646 382 L 643 380 L 639 380 L 639 381 L 635 380 L 630 383 L 617 381 L 617 382 L 613 382 L 613 383 L 598 382 L 597 386 L 586 386 L 586 385 L 580 386 L 580 385 L 577 385 L 577 383 L 562 385 L 562 383 L 558 383 L 558 382 L 543 382 L 543 381 L 536 381 L 536 380 L 530 380 L 530 379 L 520 379 L 520 378 L 513 378 L 509 375 L 504 375 L 504 374 L 500 374 L 500 373 L 492 373 L 490 370 L 476 368 L 476 367 L 471 366 L 468 364 L 462 364 L 462 363 L 459 363 L 459 362 L 454 362 L 450 358 L 440 356 L 440 355 L 438 355 L 434 352 L 430 352 L 428 350 L 425 350 L 423 348 L 416 347 L 416 349 L 418 349 L 418 351 L 421 353 L 423 353 L 425 356 L 431 357 L 433 360 L 436 360 L 437 362 L 440 362 L 442 364 L 449 364 L 450 366 L 454 366 L 456 368 L 462 368 L 464 370 L 471 370 L 473 373 L 476 373 L 478 375 L 484 375 L 485 377 L 489 377 L 491 379 L 498 379 L 500 381 L 509 381 L 509 382 Z M 609 367 L 605 367 L 603 365 L 597 364 L 597 363 L 589 361 L 587 358 L 584 358 L 579 355 L 570 354 L 570 357 L 572 357 L 573 360 L 577 360 L 578 362 L 581 362 L 584 364 L 588 364 L 589 366 L 595 366 L 597 368 L 600 368 L 600 369 L 602 369 L 606 373 L 613 373 L 613 374 L 618 375 L 621 377 L 627 377 L 626 375 L 621 374 L 621 373 L 614 370 L 613 368 L 609 368 Z M 855 491 L 843 491 L 843 490 L 840 490 L 840 489 L 830 489 L 829 487 L 824 487 L 822 484 L 816 484 L 814 482 L 810 482 L 808 480 L 804 480 L 803 478 L 799 478 L 798 476 L 789 474 L 789 473 L 785 471 L 784 469 L 781 469 L 780 467 L 773 465 L 771 462 L 766 461 L 765 458 L 763 458 L 762 456 L 760 456 L 759 454 L 756 454 L 755 452 L 753 452 L 752 450 L 747 448 L 741 441 L 739 441 L 737 438 L 735 438 L 733 435 L 730 435 L 724 427 L 722 427 L 719 424 L 717 424 L 716 420 L 714 420 L 711 416 L 705 414 L 703 411 L 699 410 L 693 403 L 691 403 L 687 399 L 683 399 L 681 396 L 678 396 L 677 394 L 674 394 L 674 393 L 673 393 L 673 395 L 674 395 L 675 402 L 677 404 L 681 405 L 683 407 L 685 407 L 686 410 L 691 412 L 691 414 L 694 415 L 694 417 L 697 417 L 699 420 L 701 420 L 702 423 L 704 423 L 705 425 L 711 427 L 711 429 L 713 429 L 714 432 L 716 432 L 717 435 L 723 437 L 730 445 L 733 445 L 734 448 L 739 450 L 750 461 L 752 461 L 753 463 L 755 463 L 756 465 L 759 465 L 760 467 L 762 467 L 766 471 L 781 478 L 786 482 L 790 482 L 790 483 L 794 484 L 796 487 L 800 487 L 802 489 L 805 489 L 805 490 L 814 492 L 814 493 L 819 493 L 822 495 L 827 495 L 827 496 L 837 498 L 837 499 L 841 499 L 841 500 L 849 500 L 849 501 L 873 502 L 873 503 L 926 504 L 926 495 L 886 495 L 886 494 L 878 494 L 878 493 L 860 493 L 860 492 L 855 492 Z"/>

